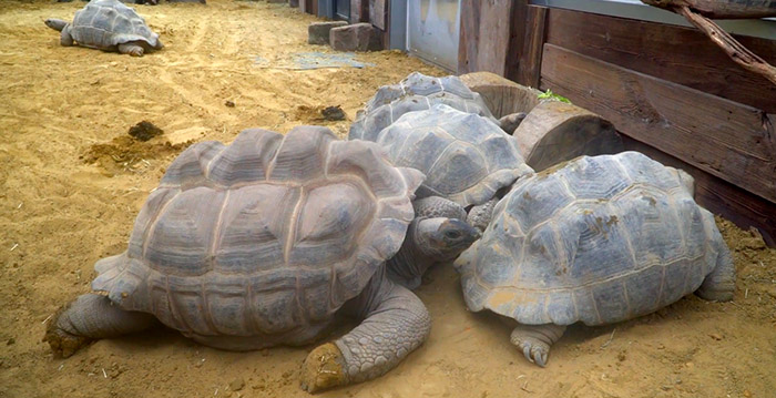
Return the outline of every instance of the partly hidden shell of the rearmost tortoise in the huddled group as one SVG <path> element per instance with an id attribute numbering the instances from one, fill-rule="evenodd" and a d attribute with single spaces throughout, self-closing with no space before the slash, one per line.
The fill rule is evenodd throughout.
<path id="1" fill-rule="evenodd" d="M 412 72 L 399 84 L 384 85 L 377 90 L 366 109 L 358 111 L 348 140 L 376 141 L 377 134 L 402 114 L 427 110 L 438 103 L 488 118 L 497 125 L 499 123 L 480 94 L 469 90 L 458 76 L 432 78 Z"/>

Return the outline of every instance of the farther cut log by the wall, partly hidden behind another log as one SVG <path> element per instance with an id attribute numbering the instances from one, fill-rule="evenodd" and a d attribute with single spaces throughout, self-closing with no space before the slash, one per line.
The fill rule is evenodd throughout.
<path id="1" fill-rule="evenodd" d="M 539 104 L 541 91 L 520 85 L 496 73 L 473 72 L 460 78 L 469 90 L 482 96 L 496 119 L 512 113 L 528 113 Z"/>

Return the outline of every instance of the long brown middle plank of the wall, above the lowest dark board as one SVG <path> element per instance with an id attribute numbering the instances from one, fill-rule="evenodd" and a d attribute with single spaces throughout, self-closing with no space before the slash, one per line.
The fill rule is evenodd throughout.
<path id="1" fill-rule="evenodd" d="M 541 75 L 624 134 L 776 202 L 776 132 L 763 111 L 549 43 Z"/>

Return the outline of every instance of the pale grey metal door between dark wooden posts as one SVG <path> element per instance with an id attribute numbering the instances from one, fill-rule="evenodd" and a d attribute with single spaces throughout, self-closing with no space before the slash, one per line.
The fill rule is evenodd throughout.
<path id="1" fill-rule="evenodd" d="M 418 58 L 458 69 L 460 0 L 408 0 L 407 47 Z"/>

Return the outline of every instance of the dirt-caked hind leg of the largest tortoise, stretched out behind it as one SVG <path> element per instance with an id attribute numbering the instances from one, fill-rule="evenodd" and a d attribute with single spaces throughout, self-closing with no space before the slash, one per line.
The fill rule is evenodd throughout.
<path id="1" fill-rule="evenodd" d="M 43 341 L 67 358 L 93 339 L 140 331 L 154 319 L 150 314 L 123 310 L 106 296 L 85 294 L 54 314 Z"/>

